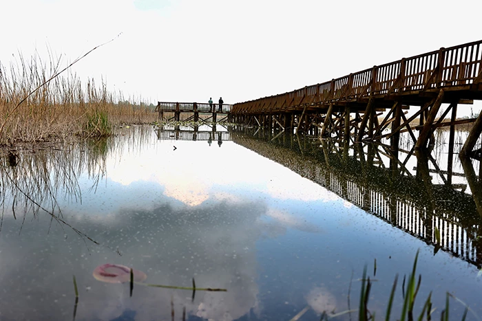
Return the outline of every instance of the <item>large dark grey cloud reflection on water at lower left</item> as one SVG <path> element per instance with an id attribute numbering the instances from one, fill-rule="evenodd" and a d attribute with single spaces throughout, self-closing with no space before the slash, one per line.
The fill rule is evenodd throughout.
<path id="1" fill-rule="evenodd" d="M 73 232 L 54 225 L 49 237 L 33 221 L 18 235 L 18 221 L 8 218 L 2 230 L 0 287 L 10 294 L 2 298 L 2 318 L 36 319 L 52 316 L 66 320 L 72 313 L 72 274 L 80 290 L 78 320 L 112 320 L 126 310 L 135 311 L 135 320 L 170 320 L 171 295 L 176 316 L 182 307 L 193 315 L 212 320 L 235 320 L 258 307 L 256 241 L 263 233 L 260 216 L 266 208 L 255 203 L 228 203 L 182 209 L 159 206 L 153 211 L 129 210 L 112 220 L 85 216 L 76 228 L 103 245 L 117 247 L 118 256 L 106 247 L 86 247 Z M 64 210 L 64 217 L 70 213 Z M 6 237 L 7 236 L 7 237 Z M 222 287 L 224 292 L 134 287 L 105 284 L 94 280 L 92 271 L 103 263 L 132 266 L 147 274 L 147 283 L 198 287 Z M 89 291 L 85 291 L 90 288 Z M 26 302 L 23 298 L 34 298 Z M 40 300 L 42 298 L 42 300 Z M 45 298 L 45 300 L 43 300 Z"/>

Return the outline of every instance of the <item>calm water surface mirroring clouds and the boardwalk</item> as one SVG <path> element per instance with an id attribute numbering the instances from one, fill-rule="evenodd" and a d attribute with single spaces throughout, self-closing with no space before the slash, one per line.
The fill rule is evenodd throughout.
<path id="1" fill-rule="evenodd" d="M 186 320 L 288 321 L 300 311 L 319 320 L 348 302 L 357 309 L 365 265 L 377 319 L 399 274 L 395 320 L 417 250 L 416 309 L 432 291 L 437 320 L 450 292 L 482 317 L 477 185 L 459 175 L 457 155 L 457 185 L 447 188 L 447 173 L 434 173 L 434 164 L 446 170 L 443 146 L 434 164 L 414 155 L 394 171 L 382 147 L 362 146 L 360 160 L 326 141 L 204 130 L 193 141 L 132 126 L 101 142 L 19 152 L 16 166 L 2 159 L 0 320 L 72 320 L 72 276 L 75 320 L 171 320 L 171 302 L 176 320 L 183 309 Z M 146 283 L 195 278 L 227 292 L 196 291 L 192 301 L 191 291 L 134 285 L 131 298 L 129 284 L 94 279 L 104 263 L 141 270 Z M 450 299 L 451 320 L 463 309 Z M 335 320 L 350 318 L 357 312 Z"/>

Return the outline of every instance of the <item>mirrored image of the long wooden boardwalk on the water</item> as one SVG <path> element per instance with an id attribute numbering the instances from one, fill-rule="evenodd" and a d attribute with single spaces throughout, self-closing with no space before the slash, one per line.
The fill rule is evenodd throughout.
<path id="1" fill-rule="evenodd" d="M 344 157 L 343 148 L 327 141 L 315 140 L 315 144 L 313 140 L 310 143 L 285 135 L 277 140 L 278 144 L 273 144 L 264 138 L 248 137 L 233 134 L 233 142 L 273 159 L 355 206 L 434 245 L 435 252 L 441 248 L 477 267 L 482 265 L 479 239 L 482 224 L 474 197 L 457 190 L 461 184 L 452 188 L 432 184 L 428 157 L 417 157 L 417 175 L 400 174 L 403 170 L 394 175 L 393 166 L 385 168 L 379 159 L 381 153 L 375 148 L 362 148 L 354 152 L 355 155 Z"/>

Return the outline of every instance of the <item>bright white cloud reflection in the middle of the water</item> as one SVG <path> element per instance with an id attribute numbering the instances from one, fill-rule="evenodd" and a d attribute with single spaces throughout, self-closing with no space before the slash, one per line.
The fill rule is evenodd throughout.
<path id="1" fill-rule="evenodd" d="M 123 161 L 108 162 L 107 173 L 112 181 L 129 186 L 136 181 L 156 182 L 165 186 L 164 194 L 189 206 L 196 206 L 215 195 L 223 186 L 247 188 L 252 193 L 268 194 L 282 200 L 334 201 L 339 199 L 333 192 L 313 183 L 309 179 L 300 179 L 300 175 L 289 168 L 269 159 L 260 159 L 259 155 L 247 153 L 244 147 L 235 144 L 223 145 L 227 153 L 206 154 L 198 145 L 190 142 L 176 142 L 179 148 L 175 153 L 158 154 L 157 150 L 143 151 L 145 157 L 129 155 L 126 151 Z M 202 151 L 202 152 L 201 152 Z M 202 158 L 194 162 L 193 155 L 202 153 Z M 213 157 L 213 158 L 211 158 Z M 226 158 L 224 158 L 226 157 Z M 198 165 L 224 164 L 230 162 L 236 170 L 227 173 L 213 173 L 212 170 Z M 256 166 L 250 166 L 255 162 Z M 173 170 L 176 168 L 182 170 Z M 132 170 L 135 168 L 135 170 Z M 216 189 L 216 190 L 214 190 Z"/>

